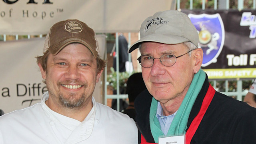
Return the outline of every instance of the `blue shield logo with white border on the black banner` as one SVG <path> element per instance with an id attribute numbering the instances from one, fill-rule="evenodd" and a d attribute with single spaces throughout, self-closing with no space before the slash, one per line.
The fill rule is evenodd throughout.
<path id="1" fill-rule="evenodd" d="M 217 62 L 225 39 L 224 24 L 220 14 L 188 14 L 199 36 L 199 48 L 204 51 L 202 67 Z"/>

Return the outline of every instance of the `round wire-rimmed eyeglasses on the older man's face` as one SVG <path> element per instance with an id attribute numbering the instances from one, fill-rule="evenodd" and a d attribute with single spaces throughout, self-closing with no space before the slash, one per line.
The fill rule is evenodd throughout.
<path id="1" fill-rule="evenodd" d="M 185 54 L 188 54 L 192 50 L 188 51 Z M 164 66 L 173 66 L 176 63 L 176 58 L 179 58 L 181 56 L 184 56 L 185 54 L 182 54 L 180 56 L 174 56 L 174 54 L 163 54 L 159 59 L 161 64 Z M 137 60 L 139 61 L 140 65 L 144 68 L 150 68 L 154 64 L 154 59 L 152 56 L 149 55 L 141 55 Z"/>

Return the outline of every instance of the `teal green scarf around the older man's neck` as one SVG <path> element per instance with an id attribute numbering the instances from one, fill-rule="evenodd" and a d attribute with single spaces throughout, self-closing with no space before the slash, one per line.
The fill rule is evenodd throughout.
<path id="1" fill-rule="evenodd" d="M 175 136 L 186 133 L 190 111 L 192 109 L 192 106 L 194 105 L 196 97 L 198 96 L 204 84 L 205 78 L 206 74 L 200 68 L 198 73 L 194 75 L 188 92 L 186 93 L 186 96 L 184 97 L 184 100 L 182 101 L 182 104 L 180 105 L 180 108 L 178 109 L 166 136 Z M 161 130 L 160 123 L 156 117 L 157 103 L 158 101 L 153 97 L 150 106 L 149 116 L 150 129 L 155 142 L 158 142 L 159 136 L 164 136 L 164 133 Z"/>

